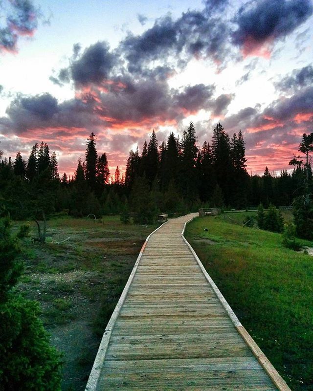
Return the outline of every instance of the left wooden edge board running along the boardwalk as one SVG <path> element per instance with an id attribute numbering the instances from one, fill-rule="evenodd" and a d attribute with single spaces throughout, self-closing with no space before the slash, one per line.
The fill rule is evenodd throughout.
<path id="1" fill-rule="evenodd" d="M 105 358 L 105 355 L 106 355 L 106 352 L 107 352 L 107 348 L 108 348 L 108 345 L 109 345 L 109 341 L 110 341 L 110 337 L 111 337 L 111 333 L 112 333 L 112 329 L 113 329 L 113 326 L 115 324 L 115 321 L 118 317 L 118 314 L 122 308 L 122 305 L 124 304 L 124 301 L 126 299 L 126 296 L 127 296 L 127 293 L 128 293 L 128 290 L 129 290 L 129 287 L 131 285 L 131 283 L 133 282 L 133 279 L 134 279 L 134 275 L 135 275 L 135 272 L 137 270 L 137 267 L 138 267 L 138 264 L 140 262 L 140 259 L 142 257 L 142 253 L 143 253 L 143 250 L 145 249 L 146 247 L 146 244 L 148 242 L 148 240 L 150 239 L 151 235 L 153 235 L 157 230 L 159 230 L 164 224 L 166 224 L 166 222 L 164 222 L 163 224 L 161 224 L 159 227 L 156 228 L 156 230 L 154 230 L 153 232 L 151 232 L 151 234 L 147 237 L 147 239 L 145 240 L 145 242 L 143 243 L 142 247 L 141 247 L 141 250 L 139 252 L 139 255 L 138 255 L 138 258 L 134 264 L 134 267 L 133 267 L 133 270 L 128 278 L 128 281 L 123 289 L 123 292 L 121 294 L 121 297 L 119 298 L 119 301 L 117 302 L 115 308 L 114 308 L 114 311 L 112 313 L 112 316 L 109 320 L 109 323 L 103 333 L 103 336 L 102 336 L 102 340 L 100 342 L 100 346 L 99 346 L 99 349 L 98 349 L 98 352 L 97 352 L 97 355 L 96 355 L 96 358 L 94 360 L 94 363 L 93 363 L 93 366 L 92 366 L 92 369 L 91 369 L 91 372 L 90 372 L 90 375 L 89 375 L 89 379 L 88 379 L 88 382 L 87 382 L 87 385 L 86 385 L 86 388 L 85 388 L 85 391 L 95 391 L 96 390 L 96 387 L 97 387 L 97 384 L 98 384 L 98 380 L 99 380 L 99 375 L 100 375 L 100 372 L 101 372 L 101 368 L 102 368 L 102 365 L 103 365 L 103 362 L 104 362 L 104 358 Z"/>

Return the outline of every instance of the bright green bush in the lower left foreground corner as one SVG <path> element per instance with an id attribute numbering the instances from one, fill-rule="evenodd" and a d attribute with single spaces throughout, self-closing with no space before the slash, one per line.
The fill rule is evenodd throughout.
<path id="1" fill-rule="evenodd" d="M 20 232 L 20 231 L 19 231 Z M 61 390 L 60 353 L 49 345 L 37 303 L 14 291 L 22 273 L 17 238 L 0 221 L 0 390 Z"/>

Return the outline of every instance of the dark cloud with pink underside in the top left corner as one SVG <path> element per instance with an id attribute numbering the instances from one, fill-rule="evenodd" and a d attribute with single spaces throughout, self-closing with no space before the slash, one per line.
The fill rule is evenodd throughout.
<path id="1" fill-rule="evenodd" d="M 16 53 L 19 38 L 31 37 L 42 15 L 31 0 L 10 0 L 10 5 L 11 11 L 6 17 L 6 25 L 0 28 L 0 51 Z"/>

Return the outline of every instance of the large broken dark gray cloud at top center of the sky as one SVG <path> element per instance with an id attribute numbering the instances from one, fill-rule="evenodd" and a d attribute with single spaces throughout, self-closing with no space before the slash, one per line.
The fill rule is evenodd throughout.
<path id="1" fill-rule="evenodd" d="M 229 28 L 220 18 L 188 10 L 175 21 L 169 15 L 157 19 L 141 35 L 129 33 L 118 50 L 127 60 L 131 73 L 141 72 L 151 61 L 166 62 L 170 55 L 177 59 L 177 66 L 186 65 L 192 56 L 222 63 L 228 36 Z"/>

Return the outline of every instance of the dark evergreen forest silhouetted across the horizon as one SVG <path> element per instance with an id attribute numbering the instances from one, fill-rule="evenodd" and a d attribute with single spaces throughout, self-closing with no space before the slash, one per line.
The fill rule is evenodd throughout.
<path id="1" fill-rule="evenodd" d="M 249 175 L 242 132 L 230 138 L 220 123 L 201 147 L 192 122 L 180 138 L 171 133 L 160 145 L 153 131 L 141 153 L 130 151 L 125 175 L 118 167 L 110 174 L 94 133 L 71 178 L 59 174 L 56 154 L 44 142 L 32 147 L 27 161 L 20 152 L 14 161 L 2 155 L 0 216 L 9 213 L 14 219 L 131 213 L 135 222 L 150 223 L 159 213 L 181 215 L 201 207 L 291 205 L 312 182 L 311 166 L 297 157 L 291 173 L 273 176 L 265 167 L 262 176 Z"/>

